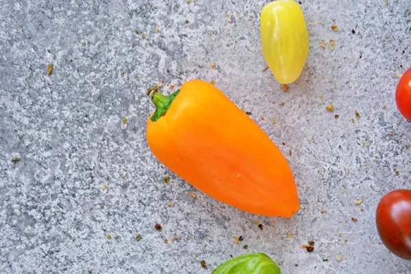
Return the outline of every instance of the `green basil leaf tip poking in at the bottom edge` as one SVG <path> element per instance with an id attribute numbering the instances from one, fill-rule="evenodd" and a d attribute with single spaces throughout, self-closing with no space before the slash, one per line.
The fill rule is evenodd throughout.
<path id="1" fill-rule="evenodd" d="M 281 274 L 281 270 L 266 254 L 251 253 L 223 262 L 212 274 Z"/>

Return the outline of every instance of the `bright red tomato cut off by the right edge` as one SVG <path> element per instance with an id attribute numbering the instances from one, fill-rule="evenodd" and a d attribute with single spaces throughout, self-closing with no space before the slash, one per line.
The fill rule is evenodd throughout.
<path id="1" fill-rule="evenodd" d="M 395 101 L 397 101 L 399 112 L 408 121 L 411 121 L 411 68 L 399 79 L 397 91 L 395 92 Z"/>

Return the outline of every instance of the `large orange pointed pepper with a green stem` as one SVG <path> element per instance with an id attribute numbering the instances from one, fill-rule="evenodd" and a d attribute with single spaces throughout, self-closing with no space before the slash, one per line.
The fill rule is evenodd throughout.
<path id="1" fill-rule="evenodd" d="M 290 218 L 297 187 L 282 152 L 218 88 L 186 82 L 164 97 L 150 88 L 157 110 L 147 121 L 155 157 L 186 182 L 253 214 Z"/>

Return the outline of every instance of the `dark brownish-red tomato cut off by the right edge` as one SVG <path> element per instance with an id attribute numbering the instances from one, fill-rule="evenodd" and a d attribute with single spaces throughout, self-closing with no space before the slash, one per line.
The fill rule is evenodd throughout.
<path id="1" fill-rule="evenodd" d="M 411 260 L 411 190 L 388 192 L 378 203 L 375 219 L 384 245 L 395 255 Z"/>

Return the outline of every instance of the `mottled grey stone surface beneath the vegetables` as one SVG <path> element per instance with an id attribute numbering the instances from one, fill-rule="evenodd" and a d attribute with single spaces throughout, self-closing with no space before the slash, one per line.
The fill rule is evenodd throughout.
<path id="1" fill-rule="evenodd" d="M 0 0 L 1 273 L 210 273 L 257 251 L 284 273 L 411 273 L 374 217 L 386 192 L 411 188 L 411 123 L 395 105 L 411 2 L 301 0 L 310 54 L 288 92 L 262 72 L 266 2 Z M 146 88 L 194 78 L 215 80 L 282 149 L 301 200 L 294 218 L 225 206 L 153 158 Z"/>

